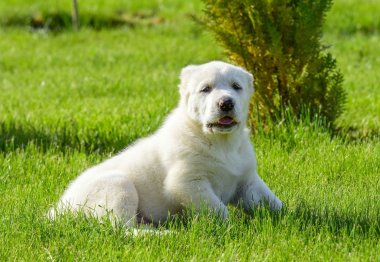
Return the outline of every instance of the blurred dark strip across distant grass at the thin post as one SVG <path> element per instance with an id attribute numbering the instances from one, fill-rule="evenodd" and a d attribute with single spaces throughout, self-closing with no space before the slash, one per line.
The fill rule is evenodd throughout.
<path id="1" fill-rule="evenodd" d="M 164 22 L 164 19 L 158 16 L 154 10 L 133 13 L 117 11 L 110 15 L 80 13 L 79 19 L 81 27 L 94 30 L 156 26 Z M 35 15 L 12 14 L 0 18 L 0 26 L 25 27 L 31 28 L 32 30 L 42 29 L 58 33 L 64 30 L 72 30 L 72 18 L 70 13 L 64 11 Z"/>

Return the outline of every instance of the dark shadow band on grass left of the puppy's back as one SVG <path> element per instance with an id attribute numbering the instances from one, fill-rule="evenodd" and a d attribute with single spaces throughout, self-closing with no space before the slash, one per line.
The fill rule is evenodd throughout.
<path id="1" fill-rule="evenodd" d="M 55 149 L 61 152 L 79 150 L 87 153 L 116 153 L 137 137 L 122 137 L 97 129 L 79 130 L 70 123 L 59 127 L 36 128 L 33 125 L 19 125 L 13 121 L 0 122 L 0 152 L 23 150 L 34 145 L 46 152 Z"/>

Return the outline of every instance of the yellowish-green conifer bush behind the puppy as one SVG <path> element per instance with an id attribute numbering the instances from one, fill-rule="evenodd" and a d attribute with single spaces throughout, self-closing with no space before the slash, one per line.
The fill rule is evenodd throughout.
<path id="1" fill-rule="evenodd" d="M 307 111 L 333 123 L 343 111 L 343 77 L 321 43 L 332 0 L 203 0 L 201 22 L 229 58 L 252 72 L 253 120 Z M 260 122 L 261 122 L 260 121 Z"/>

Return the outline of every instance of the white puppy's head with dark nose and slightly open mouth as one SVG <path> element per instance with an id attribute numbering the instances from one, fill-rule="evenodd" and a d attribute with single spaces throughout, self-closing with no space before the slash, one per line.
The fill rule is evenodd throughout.
<path id="1" fill-rule="evenodd" d="M 253 77 L 244 69 L 213 61 L 181 72 L 181 106 L 205 133 L 230 133 L 245 126 Z"/>

